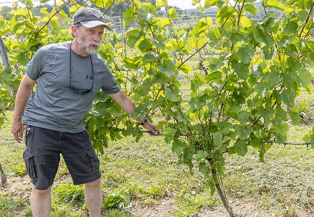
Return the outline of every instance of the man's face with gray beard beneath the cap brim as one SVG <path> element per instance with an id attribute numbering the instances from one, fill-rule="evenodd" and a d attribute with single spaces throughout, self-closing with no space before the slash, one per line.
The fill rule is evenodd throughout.
<path id="1" fill-rule="evenodd" d="M 103 25 L 95 26 L 93 28 L 86 28 L 85 26 L 81 26 L 81 28 L 78 30 L 77 41 L 86 53 L 95 54 L 97 53 L 103 34 Z"/>

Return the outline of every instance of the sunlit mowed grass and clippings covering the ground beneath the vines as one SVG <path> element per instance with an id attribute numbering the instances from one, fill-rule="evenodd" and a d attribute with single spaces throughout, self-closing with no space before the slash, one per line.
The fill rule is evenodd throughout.
<path id="1" fill-rule="evenodd" d="M 311 95 L 302 93 L 300 97 L 313 104 Z M 0 162 L 8 173 L 19 174 L 25 144 L 14 142 L 10 131 L 12 113 L 8 117 L 0 132 Z M 310 125 L 291 126 L 288 142 L 302 142 L 303 135 L 310 129 Z M 154 207 L 165 201 L 173 202 L 168 215 L 178 217 L 221 206 L 219 196 L 211 197 L 204 189 L 205 180 L 198 168 L 191 173 L 186 165 L 179 165 L 171 145 L 166 144 L 162 136 L 145 134 L 138 143 L 132 137 L 111 141 L 105 154 L 110 156 L 111 162 L 99 156 L 104 194 L 102 216 L 141 216 L 134 212 L 135 204 Z M 266 153 L 265 163 L 259 162 L 258 152 L 250 147 L 244 157 L 224 157 L 224 186 L 230 201 L 253 203 L 261 210 L 268 210 L 269 216 L 288 216 L 292 212 L 309 216 L 314 208 L 313 149 L 306 145 L 274 144 Z M 51 216 L 88 216 L 82 201 L 84 185 L 71 185 L 63 160 L 59 169 L 52 188 Z M 29 200 L 21 199 L 31 190 L 27 181 L 25 174 L 8 177 L 11 187 L 0 188 L 0 217 L 31 216 Z M 14 191 L 12 185 L 16 185 Z"/>

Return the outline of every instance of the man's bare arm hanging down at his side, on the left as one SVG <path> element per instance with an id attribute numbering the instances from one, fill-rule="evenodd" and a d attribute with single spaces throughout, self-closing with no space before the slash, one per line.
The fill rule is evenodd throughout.
<path id="1" fill-rule="evenodd" d="M 28 77 L 28 75 L 25 73 L 25 76 L 19 85 L 19 90 L 16 93 L 11 131 L 15 140 L 18 143 L 20 143 L 23 138 L 22 115 L 27 105 L 27 102 L 30 99 L 30 95 L 32 94 L 32 90 L 35 84 L 36 81 L 30 79 L 30 77 Z"/>

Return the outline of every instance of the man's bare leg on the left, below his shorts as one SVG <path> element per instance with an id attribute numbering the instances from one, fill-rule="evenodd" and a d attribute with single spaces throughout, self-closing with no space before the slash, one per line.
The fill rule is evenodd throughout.
<path id="1" fill-rule="evenodd" d="M 36 190 L 30 195 L 30 208 L 33 217 L 49 217 L 51 212 L 51 186 L 46 190 Z"/>

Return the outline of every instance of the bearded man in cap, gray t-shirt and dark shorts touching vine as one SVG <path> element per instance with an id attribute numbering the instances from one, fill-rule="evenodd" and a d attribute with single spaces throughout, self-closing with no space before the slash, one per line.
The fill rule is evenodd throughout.
<path id="1" fill-rule="evenodd" d="M 25 68 L 16 95 L 12 133 L 17 142 L 23 137 L 27 172 L 34 184 L 30 205 L 34 217 L 49 217 L 51 186 L 60 153 L 75 185 L 85 184 L 85 203 L 90 217 L 100 217 L 101 174 L 83 119 L 96 93 L 102 89 L 128 114 L 135 105 L 119 88 L 106 65 L 96 54 L 105 24 L 99 11 L 81 8 L 73 16 L 72 42 L 41 47 Z M 32 89 L 38 80 L 36 91 Z M 22 118 L 23 116 L 23 118 Z M 157 134 L 156 125 L 136 118 L 145 129 Z"/>

